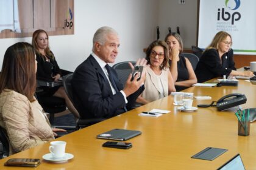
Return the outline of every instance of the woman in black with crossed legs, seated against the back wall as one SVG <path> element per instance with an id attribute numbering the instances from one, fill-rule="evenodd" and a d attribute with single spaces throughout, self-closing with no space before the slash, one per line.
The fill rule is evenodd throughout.
<path id="1" fill-rule="evenodd" d="M 37 79 L 44 81 L 58 81 L 61 76 L 60 67 L 55 60 L 54 54 L 49 49 L 49 37 L 48 33 L 44 30 L 36 30 L 32 36 L 32 45 L 35 48 L 35 54 L 37 55 Z M 78 119 L 79 113 L 73 106 L 65 92 L 64 87 L 42 87 L 45 94 L 48 97 L 60 97 L 64 98 L 66 106 Z"/>

